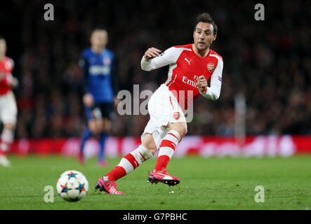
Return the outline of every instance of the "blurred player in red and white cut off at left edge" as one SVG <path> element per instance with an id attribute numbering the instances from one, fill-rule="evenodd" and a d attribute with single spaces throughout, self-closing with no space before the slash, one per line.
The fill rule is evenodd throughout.
<path id="1" fill-rule="evenodd" d="M 3 130 L 0 135 L 0 165 L 10 167 L 6 152 L 14 140 L 15 124 L 18 109 L 11 90 L 18 86 L 18 79 L 12 76 L 13 59 L 6 57 L 6 40 L 0 36 L 0 120 Z"/>

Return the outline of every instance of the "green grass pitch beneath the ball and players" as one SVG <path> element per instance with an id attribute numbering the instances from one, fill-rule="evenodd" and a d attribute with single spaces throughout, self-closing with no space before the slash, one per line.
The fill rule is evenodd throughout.
<path id="1" fill-rule="evenodd" d="M 311 156 L 291 158 L 173 158 L 168 172 L 180 178 L 178 186 L 147 183 L 156 160 L 147 160 L 117 181 L 126 195 L 94 191 L 95 182 L 119 159 L 108 159 L 110 167 L 75 158 L 10 156 L 11 168 L 0 167 L 0 209 L 311 209 Z M 84 173 L 90 189 L 79 202 L 66 202 L 56 192 L 62 172 Z M 44 202 L 45 186 L 53 186 L 54 202 Z M 265 202 L 257 203 L 255 187 L 263 186 Z"/>

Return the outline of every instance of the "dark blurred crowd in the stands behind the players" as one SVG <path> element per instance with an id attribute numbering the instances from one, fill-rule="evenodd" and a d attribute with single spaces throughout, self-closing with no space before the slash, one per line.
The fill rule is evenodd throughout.
<path id="1" fill-rule="evenodd" d="M 52 3 L 55 20 L 44 20 Z M 17 138 L 79 137 L 86 125 L 81 101 L 81 50 L 93 28 L 104 25 L 107 48 L 118 61 L 119 87 L 156 90 L 168 66 L 140 69 L 150 46 L 166 50 L 192 43 L 199 13 L 218 25 L 211 49 L 223 57 L 220 99 L 199 97 L 188 134 L 234 134 L 234 96 L 246 97 L 246 134 L 311 134 L 311 3 L 262 1 L 265 21 L 254 19 L 256 1 L 12 1 L 1 9 L 1 35 L 20 80 Z M 140 136 L 149 116 L 119 116 L 114 136 Z"/>

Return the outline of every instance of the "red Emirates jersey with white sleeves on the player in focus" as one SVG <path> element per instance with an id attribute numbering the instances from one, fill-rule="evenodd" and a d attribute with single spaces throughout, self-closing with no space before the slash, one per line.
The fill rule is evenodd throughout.
<path id="1" fill-rule="evenodd" d="M 144 71 L 161 68 L 169 65 L 168 78 L 164 85 L 174 94 L 180 106 L 187 109 L 199 94 L 208 99 L 216 100 L 220 96 L 223 73 L 223 58 L 209 49 L 206 57 L 199 57 L 192 49 L 192 44 L 168 48 L 158 57 L 141 61 Z M 211 78 L 211 86 L 206 92 L 199 92 L 197 80 L 204 76 Z"/>

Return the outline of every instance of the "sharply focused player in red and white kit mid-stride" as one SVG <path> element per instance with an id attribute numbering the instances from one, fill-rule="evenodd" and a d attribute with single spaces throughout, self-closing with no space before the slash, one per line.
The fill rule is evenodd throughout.
<path id="1" fill-rule="evenodd" d="M 148 111 L 150 120 L 142 134 L 142 144 L 121 159 L 107 175 L 98 179 L 95 189 L 113 195 L 123 195 L 117 190 L 117 181 L 132 172 L 159 150 L 157 164 L 148 176 L 151 183 L 180 183 L 176 176 L 168 174 L 166 167 L 177 144 L 187 133 L 185 111 L 201 94 L 216 100 L 220 96 L 223 58 L 210 49 L 216 40 L 217 26 L 209 13 L 197 17 L 193 31 L 194 43 L 168 48 L 163 53 L 149 48 L 141 67 L 144 71 L 169 65 L 168 78 L 150 97 Z M 208 87 L 207 80 L 211 79 Z"/>

